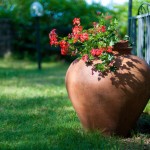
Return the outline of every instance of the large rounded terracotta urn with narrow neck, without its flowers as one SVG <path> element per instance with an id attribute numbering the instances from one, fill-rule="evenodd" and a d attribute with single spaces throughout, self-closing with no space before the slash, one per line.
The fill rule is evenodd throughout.
<path id="1" fill-rule="evenodd" d="M 150 99 L 150 67 L 130 51 L 125 43 L 114 46 L 114 72 L 93 72 L 83 60 L 68 68 L 67 92 L 84 129 L 126 137 L 143 112 Z"/>

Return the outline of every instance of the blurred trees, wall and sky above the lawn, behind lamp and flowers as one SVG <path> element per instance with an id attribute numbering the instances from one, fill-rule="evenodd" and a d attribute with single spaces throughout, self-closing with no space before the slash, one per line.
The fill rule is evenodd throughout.
<path id="1" fill-rule="evenodd" d="M 30 12 L 33 2 L 34 0 L 0 0 L 0 57 L 36 61 L 39 40 L 42 61 L 70 61 L 72 58 L 61 56 L 58 48 L 49 45 L 50 30 L 55 28 L 60 36 L 67 35 L 71 32 L 75 17 L 81 18 L 82 25 L 87 28 L 96 20 L 98 11 L 119 20 L 120 37 L 127 34 L 128 0 L 39 0 L 43 15 L 38 22 Z M 133 0 L 133 16 L 137 15 L 142 2 L 143 0 Z"/>

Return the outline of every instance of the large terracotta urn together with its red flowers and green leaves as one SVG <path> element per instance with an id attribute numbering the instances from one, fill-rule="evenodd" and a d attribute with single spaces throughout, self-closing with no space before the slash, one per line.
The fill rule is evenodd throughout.
<path id="1" fill-rule="evenodd" d="M 62 55 L 78 56 L 65 78 L 73 107 L 85 129 L 125 137 L 150 98 L 150 67 L 119 40 L 115 19 L 100 14 L 93 28 L 83 29 L 80 18 L 73 25 L 67 37 L 49 33 Z"/>

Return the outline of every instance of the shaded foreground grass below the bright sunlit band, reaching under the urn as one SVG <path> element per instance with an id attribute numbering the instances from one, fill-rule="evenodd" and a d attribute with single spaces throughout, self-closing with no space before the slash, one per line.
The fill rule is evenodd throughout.
<path id="1" fill-rule="evenodd" d="M 119 141 L 99 133 L 84 132 L 67 97 L 6 100 L 1 105 L 1 149 L 136 149 L 148 150 L 149 144 L 134 138 Z M 142 114 L 137 132 L 149 134 L 150 116 Z M 148 125 L 147 125 L 148 124 Z M 4 129 L 3 129 L 4 128 Z M 144 131 L 143 131 L 144 130 Z"/>

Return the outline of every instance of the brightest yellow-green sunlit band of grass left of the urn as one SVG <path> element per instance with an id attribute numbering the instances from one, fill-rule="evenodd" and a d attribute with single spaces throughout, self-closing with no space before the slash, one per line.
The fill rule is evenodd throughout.
<path id="1" fill-rule="evenodd" d="M 58 96 L 58 95 L 67 95 L 65 87 L 51 86 L 46 87 L 45 89 L 40 87 L 14 87 L 14 86 L 1 86 L 0 97 L 11 98 L 12 100 L 15 98 L 16 100 L 20 100 L 21 98 L 36 98 L 47 97 L 47 96 Z"/>

